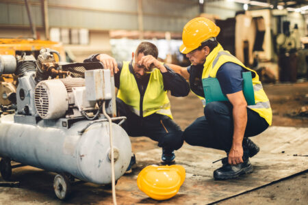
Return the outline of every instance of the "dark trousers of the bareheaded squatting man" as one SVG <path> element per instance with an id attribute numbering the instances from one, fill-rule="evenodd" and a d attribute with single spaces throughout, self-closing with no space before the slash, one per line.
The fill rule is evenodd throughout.
<path id="1" fill-rule="evenodd" d="M 183 145 L 181 128 L 168 116 L 154 113 L 141 118 L 119 98 L 116 98 L 116 108 L 118 116 L 127 117 L 122 127 L 129 136 L 150 137 L 154 141 L 158 141 L 159 147 L 169 151 L 178 150 Z"/>

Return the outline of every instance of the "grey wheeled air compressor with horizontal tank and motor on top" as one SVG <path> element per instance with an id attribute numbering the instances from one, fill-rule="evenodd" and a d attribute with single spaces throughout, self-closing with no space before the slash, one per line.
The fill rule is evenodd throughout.
<path id="1" fill-rule="evenodd" d="M 0 75 L 18 76 L 16 92 L 5 92 L 10 108 L 0 113 L 0 171 L 10 179 L 16 161 L 56 172 L 53 187 L 63 200 L 74 178 L 114 184 L 129 165 L 131 142 L 120 127 L 125 117 L 115 115 L 110 70 L 99 62 L 60 64 L 54 55 L 60 58 L 51 49 L 37 59 L 0 55 Z"/>

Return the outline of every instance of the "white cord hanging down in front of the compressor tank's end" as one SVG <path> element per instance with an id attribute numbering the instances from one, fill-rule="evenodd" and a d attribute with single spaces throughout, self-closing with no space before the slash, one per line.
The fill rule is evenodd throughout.
<path id="1" fill-rule="evenodd" d="M 112 120 L 109 115 L 107 115 L 105 110 L 105 101 L 103 102 L 103 114 L 109 122 L 109 137 L 110 137 L 110 152 L 111 152 L 111 164 L 112 164 L 112 200 L 114 205 L 116 204 L 116 178 L 114 176 L 114 146 L 112 145 Z"/>

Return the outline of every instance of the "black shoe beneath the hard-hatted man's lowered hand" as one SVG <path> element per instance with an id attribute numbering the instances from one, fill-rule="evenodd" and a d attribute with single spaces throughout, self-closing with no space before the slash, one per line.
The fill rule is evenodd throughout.
<path id="1" fill-rule="evenodd" d="M 238 165 L 230 165 L 228 158 L 222 159 L 222 167 L 214 171 L 215 180 L 225 180 L 230 178 L 237 178 L 242 174 L 248 174 L 253 172 L 253 165 L 251 165 L 248 157 L 244 160 L 244 163 Z"/>

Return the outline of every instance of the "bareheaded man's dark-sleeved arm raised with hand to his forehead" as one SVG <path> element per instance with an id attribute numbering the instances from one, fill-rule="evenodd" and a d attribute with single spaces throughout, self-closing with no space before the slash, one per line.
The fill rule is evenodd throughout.
<path id="1" fill-rule="evenodd" d="M 151 65 L 159 69 L 164 80 L 164 90 L 170 90 L 172 96 L 183 97 L 189 94 L 190 86 L 188 82 L 180 74 L 175 73 L 168 65 L 162 64 L 152 55 L 145 55 L 138 64 L 144 65 L 146 69 L 151 68 Z"/>

